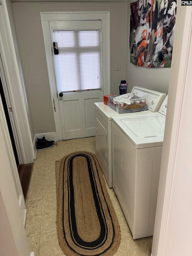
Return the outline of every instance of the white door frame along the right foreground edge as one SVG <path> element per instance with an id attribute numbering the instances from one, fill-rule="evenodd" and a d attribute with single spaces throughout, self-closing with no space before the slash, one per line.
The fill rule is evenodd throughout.
<path id="1" fill-rule="evenodd" d="M 192 255 L 192 9 L 178 2 L 151 256 Z"/>

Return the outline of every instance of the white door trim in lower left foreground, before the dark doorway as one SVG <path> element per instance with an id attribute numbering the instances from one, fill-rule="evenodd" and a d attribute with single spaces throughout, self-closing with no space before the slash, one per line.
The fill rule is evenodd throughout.
<path id="1" fill-rule="evenodd" d="M 26 209 L 13 149 L 0 99 L 0 254 L 34 256 L 25 232 Z M 17 174 L 17 175 L 16 175 Z"/>

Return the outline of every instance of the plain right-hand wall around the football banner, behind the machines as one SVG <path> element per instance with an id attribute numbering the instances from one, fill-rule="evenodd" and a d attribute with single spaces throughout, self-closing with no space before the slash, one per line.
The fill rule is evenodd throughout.
<path id="1" fill-rule="evenodd" d="M 133 1 L 132 1 L 133 2 Z M 168 93 L 171 68 L 143 68 L 130 62 L 130 2 L 128 2 L 127 25 L 127 74 L 128 92 L 133 86 L 141 86 L 158 92 Z"/>

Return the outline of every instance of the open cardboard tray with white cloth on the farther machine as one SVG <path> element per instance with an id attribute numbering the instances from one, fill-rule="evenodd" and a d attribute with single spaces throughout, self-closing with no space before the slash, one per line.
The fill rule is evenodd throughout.
<path id="1" fill-rule="evenodd" d="M 130 100 L 131 104 L 126 104 L 123 102 L 114 104 L 113 98 L 115 97 L 117 97 L 117 95 L 108 96 L 107 106 L 109 106 L 119 114 L 148 110 L 146 99 L 144 98 L 133 96 Z"/>

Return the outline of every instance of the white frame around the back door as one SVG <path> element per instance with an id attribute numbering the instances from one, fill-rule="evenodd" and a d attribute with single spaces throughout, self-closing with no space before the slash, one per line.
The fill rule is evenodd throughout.
<path id="1" fill-rule="evenodd" d="M 52 98 L 52 107 L 55 110 L 53 111 L 54 120 L 55 120 L 55 129 L 57 140 L 63 140 L 62 129 L 61 129 L 61 118 L 59 113 L 59 104 L 57 98 L 57 87 L 55 82 L 55 76 L 52 74 L 54 71 L 54 63 L 52 58 L 52 45 L 50 41 L 50 32 L 45 33 L 45 31 L 49 31 L 49 21 L 54 20 L 71 20 L 71 16 L 73 16 L 73 20 L 85 20 L 85 17 L 82 17 L 82 14 L 86 14 L 86 20 L 102 20 L 102 24 L 106 24 L 108 31 L 106 34 L 103 34 L 103 37 L 109 41 L 110 44 L 110 18 L 109 12 L 41 12 L 41 23 L 43 29 L 44 36 L 44 44 L 45 44 L 45 53 L 46 53 L 46 62 L 49 74 L 49 85 L 51 91 Z M 105 38 L 103 38 L 105 40 Z M 110 94 L 110 46 L 107 51 L 103 54 L 103 59 L 108 60 L 108 68 L 106 71 L 106 76 L 103 79 L 103 92 L 104 95 Z M 51 86 L 52 85 L 52 86 Z"/>

